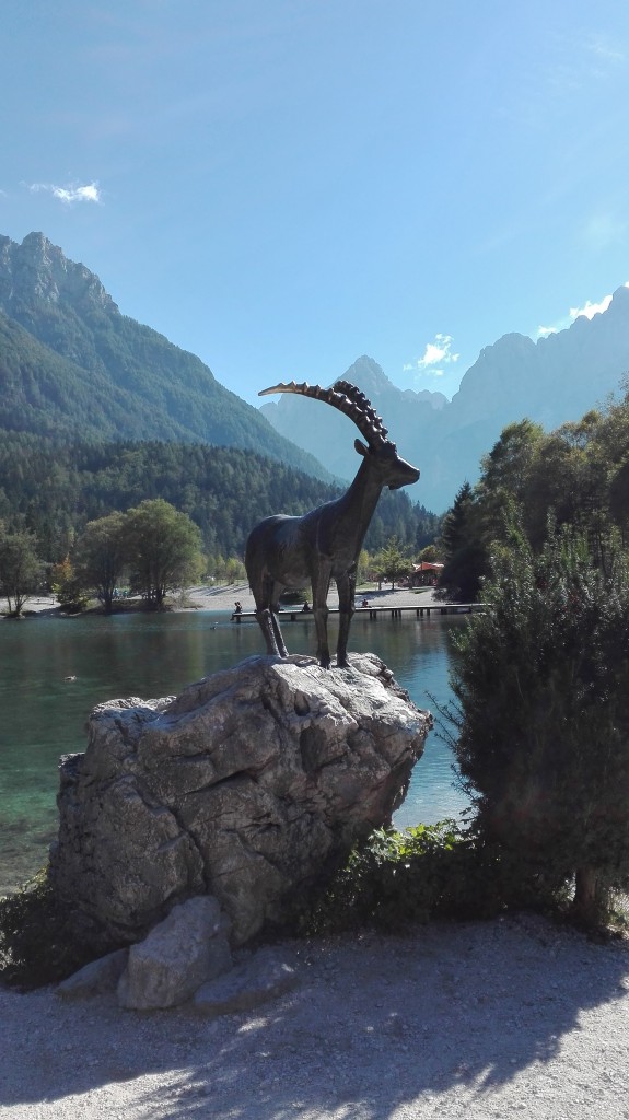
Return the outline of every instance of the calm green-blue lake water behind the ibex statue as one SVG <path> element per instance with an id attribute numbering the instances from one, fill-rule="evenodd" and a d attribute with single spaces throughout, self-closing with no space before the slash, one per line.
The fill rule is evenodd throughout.
<path id="1" fill-rule="evenodd" d="M 430 696 L 440 702 L 450 696 L 450 634 L 464 620 L 355 616 L 350 650 L 377 653 L 414 702 L 432 708 Z M 312 619 L 287 622 L 284 637 L 291 652 L 312 651 Z M 95 704 L 170 696 L 263 650 L 255 622 L 236 625 L 212 610 L 0 622 L 0 894 L 46 861 L 57 829 L 59 756 L 85 749 Z M 395 824 L 433 823 L 466 805 L 451 752 L 432 731 Z"/>

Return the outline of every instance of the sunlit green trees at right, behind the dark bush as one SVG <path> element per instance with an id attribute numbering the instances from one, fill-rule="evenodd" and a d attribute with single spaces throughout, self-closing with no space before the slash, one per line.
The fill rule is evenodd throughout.
<path id="1" fill-rule="evenodd" d="M 586 535 L 597 564 L 605 564 L 612 530 L 629 543 L 629 393 L 548 435 L 529 420 L 505 428 L 477 486 L 461 487 L 443 519 L 443 596 L 479 598 L 489 557 L 508 545 L 514 525 L 538 552 L 551 515 Z"/>

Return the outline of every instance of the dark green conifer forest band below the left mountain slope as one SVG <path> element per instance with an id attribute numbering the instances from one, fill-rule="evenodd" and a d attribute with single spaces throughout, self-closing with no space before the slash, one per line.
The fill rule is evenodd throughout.
<path id="1" fill-rule="evenodd" d="M 43 559 L 56 562 L 87 521 L 161 497 L 199 526 L 209 554 L 242 556 L 248 532 L 273 513 L 301 514 L 340 491 L 253 451 L 165 442 L 59 447 L 8 432 L 0 442 L 0 520 L 27 528 Z M 436 517 L 406 494 L 385 492 L 366 541 L 370 551 L 396 535 L 419 549 Z"/>

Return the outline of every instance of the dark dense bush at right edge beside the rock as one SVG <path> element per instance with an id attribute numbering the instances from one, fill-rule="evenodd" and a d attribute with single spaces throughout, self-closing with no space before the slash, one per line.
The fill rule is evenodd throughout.
<path id="1" fill-rule="evenodd" d="M 452 680 L 480 834 L 539 890 L 575 876 L 590 923 L 629 881 L 629 568 L 614 541 L 607 558 L 567 528 L 499 550 Z"/>

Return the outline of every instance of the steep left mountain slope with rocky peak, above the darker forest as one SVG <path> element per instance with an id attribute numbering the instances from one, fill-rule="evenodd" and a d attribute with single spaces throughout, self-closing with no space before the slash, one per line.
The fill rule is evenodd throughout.
<path id="1" fill-rule="evenodd" d="M 0 427 L 250 448 L 330 478 L 198 357 L 121 315 L 40 233 L 21 245 L 0 236 Z"/>

